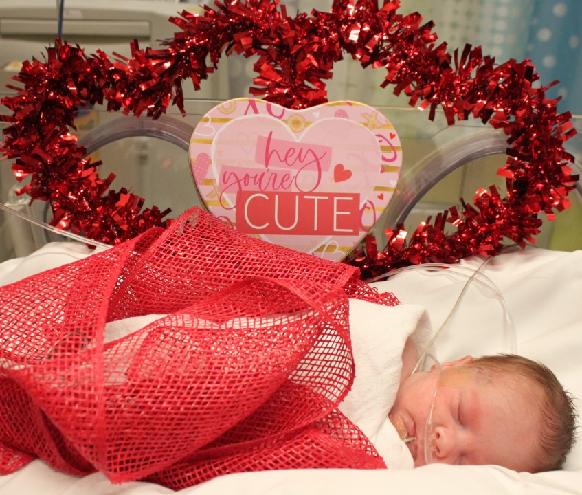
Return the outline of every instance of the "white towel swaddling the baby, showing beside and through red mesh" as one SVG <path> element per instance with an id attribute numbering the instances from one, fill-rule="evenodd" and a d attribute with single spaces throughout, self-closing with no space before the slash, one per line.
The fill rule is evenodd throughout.
<path id="1" fill-rule="evenodd" d="M 105 327 L 105 342 L 123 338 L 164 316 L 110 322 Z M 424 349 L 432 334 L 426 311 L 420 305 L 390 307 L 350 299 L 350 334 L 355 378 L 339 410 L 366 434 L 390 469 L 412 468 L 412 455 L 390 423 L 388 412 L 396 399 L 407 338 Z"/>

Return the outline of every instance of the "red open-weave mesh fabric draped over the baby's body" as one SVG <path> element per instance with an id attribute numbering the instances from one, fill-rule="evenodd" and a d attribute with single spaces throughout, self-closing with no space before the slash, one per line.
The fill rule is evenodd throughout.
<path id="1" fill-rule="evenodd" d="M 178 489 L 241 470 L 381 467 L 336 409 L 354 267 L 193 208 L 167 230 L 0 287 L 0 469 Z M 167 314 L 107 342 L 106 322 Z"/>

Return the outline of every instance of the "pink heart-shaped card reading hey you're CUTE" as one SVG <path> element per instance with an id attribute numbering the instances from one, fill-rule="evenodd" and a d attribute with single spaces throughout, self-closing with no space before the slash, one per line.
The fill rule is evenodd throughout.
<path id="1" fill-rule="evenodd" d="M 192 175 L 215 217 L 336 261 L 388 206 L 401 164 L 392 124 L 358 102 L 292 110 L 237 98 L 210 110 L 190 142 Z"/>

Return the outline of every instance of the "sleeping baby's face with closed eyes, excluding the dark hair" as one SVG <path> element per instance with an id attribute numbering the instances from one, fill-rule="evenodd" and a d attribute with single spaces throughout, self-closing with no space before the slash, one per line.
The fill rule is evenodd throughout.
<path id="1" fill-rule="evenodd" d="M 513 377 L 496 375 L 491 380 L 487 373 L 452 364 L 445 365 L 440 375 L 438 371 L 414 373 L 401 384 L 390 415 L 405 426 L 406 432 L 399 433 L 416 437 L 407 443 L 415 467 L 434 462 L 531 469 L 540 414 L 522 393 L 515 393 L 515 386 L 510 386 Z M 432 428 L 428 429 L 437 380 Z M 429 459 L 424 452 L 426 437 Z"/>

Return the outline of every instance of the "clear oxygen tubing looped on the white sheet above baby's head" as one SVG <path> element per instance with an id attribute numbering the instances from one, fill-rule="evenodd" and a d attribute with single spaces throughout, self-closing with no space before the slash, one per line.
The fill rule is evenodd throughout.
<path id="1" fill-rule="evenodd" d="M 467 290 L 469 289 L 469 287 L 471 286 L 472 283 L 477 283 L 480 286 L 482 286 L 486 289 L 489 289 L 489 291 L 493 294 L 493 296 L 495 296 L 495 298 L 499 301 L 500 305 L 502 306 L 503 313 L 504 313 L 504 329 L 505 329 L 505 334 L 506 334 L 505 336 L 509 342 L 510 352 L 511 353 L 517 352 L 517 332 L 515 330 L 515 322 L 513 321 L 513 317 L 511 316 L 511 313 L 507 307 L 507 303 L 503 297 L 503 294 L 500 292 L 499 288 L 497 287 L 497 285 L 495 285 L 495 283 L 493 283 L 491 278 L 489 278 L 488 276 L 486 276 L 482 273 L 483 268 L 486 266 L 487 263 L 489 263 L 491 258 L 492 258 L 492 256 L 489 256 L 488 258 L 484 259 L 484 261 L 480 264 L 480 266 L 476 270 L 473 268 L 461 267 L 458 265 L 446 265 L 444 263 L 425 263 L 423 265 L 412 265 L 412 266 L 402 267 L 402 268 L 393 270 L 392 272 L 388 272 L 387 274 L 381 274 L 377 277 L 371 278 L 370 280 L 366 281 L 367 283 L 377 282 L 377 281 L 383 280 L 384 278 L 388 278 L 390 276 L 393 276 L 393 275 L 396 275 L 396 274 L 399 274 L 402 272 L 408 272 L 408 271 L 435 272 L 435 270 L 438 270 L 438 271 L 446 270 L 446 272 L 448 272 L 448 273 L 455 273 L 455 274 L 458 274 L 462 277 L 467 278 L 467 282 L 465 283 L 465 285 L 463 285 L 461 292 L 458 295 L 451 311 L 449 311 L 449 314 L 447 315 L 447 318 L 445 318 L 445 321 L 443 322 L 443 324 L 440 325 L 438 330 L 434 333 L 431 340 L 427 344 L 427 347 L 421 353 L 420 357 L 418 358 L 418 361 L 416 362 L 416 366 L 414 366 L 412 373 L 415 373 L 416 371 L 418 371 L 419 367 L 421 367 L 425 358 L 427 357 L 427 353 L 429 352 L 429 349 L 431 349 L 434 342 L 436 342 L 436 339 L 438 338 L 438 336 L 440 336 L 440 334 L 443 332 L 443 330 L 449 325 L 451 320 L 454 318 L 456 311 L 458 311 L 458 308 L 460 307 L 462 299 L 465 297 L 465 294 L 467 293 Z M 436 361 L 435 358 L 432 358 L 432 359 Z"/>

